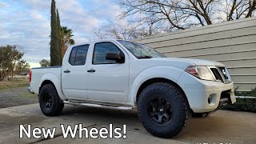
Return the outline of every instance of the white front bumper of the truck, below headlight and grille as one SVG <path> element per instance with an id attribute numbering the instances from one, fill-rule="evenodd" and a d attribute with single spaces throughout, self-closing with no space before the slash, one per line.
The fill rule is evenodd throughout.
<path id="1" fill-rule="evenodd" d="M 221 109 L 228 103 L 234 103 L 234 84 L 206 81 L 183 73 L 178 84 L 194 113 L 206 113 Z"/>

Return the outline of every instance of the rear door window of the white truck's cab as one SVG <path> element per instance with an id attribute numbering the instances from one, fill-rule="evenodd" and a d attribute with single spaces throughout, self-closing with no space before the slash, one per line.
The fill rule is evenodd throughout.
<path id="1" fill-rule="evenodd" d="M 70 54 L 70 65 L 79 66 L 86 63 L 89 45 L 75 46 Z"/>

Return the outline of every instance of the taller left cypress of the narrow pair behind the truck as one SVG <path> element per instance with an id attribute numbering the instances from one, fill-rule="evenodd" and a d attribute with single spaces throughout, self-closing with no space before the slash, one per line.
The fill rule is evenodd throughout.
<path id="1" fill-rule="evenodd" d="M 55 10 L 55 0 L 51 1 L 51 10 L 50 10 L 50 66 L 60 66 L 60 51 L 58 45 L 58 25 L 56 18 Z"/>

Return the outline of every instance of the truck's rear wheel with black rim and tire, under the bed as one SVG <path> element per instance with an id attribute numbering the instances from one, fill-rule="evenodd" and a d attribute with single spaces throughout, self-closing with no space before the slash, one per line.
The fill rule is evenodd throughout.
<path id="1" fill-rule="evenodd" d="M 39 94 L 39 105 L 46 116 L 57 116 L 62 113 L 64 103 L 60 102 L 58 92 L 53 84 L 42 86 Z"/>

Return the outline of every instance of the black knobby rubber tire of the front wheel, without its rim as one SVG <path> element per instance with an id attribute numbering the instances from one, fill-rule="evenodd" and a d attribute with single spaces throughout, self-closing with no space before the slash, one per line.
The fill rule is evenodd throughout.
<path id="1" fill-rule="evenodd" d="M 154 122 L 148 113 L 148 103 L 152 98 L 163 98 L 170 104 L 172 109 L 170 122 L 159 125 Z M 186 100 L 186 95 L 174 84 L 157 82 L 146 86 L 138 97 L 138 118 L 145 129 L 160 138 L 171 138 L 179 134 L 192 118 L 190 106 Z"/>

